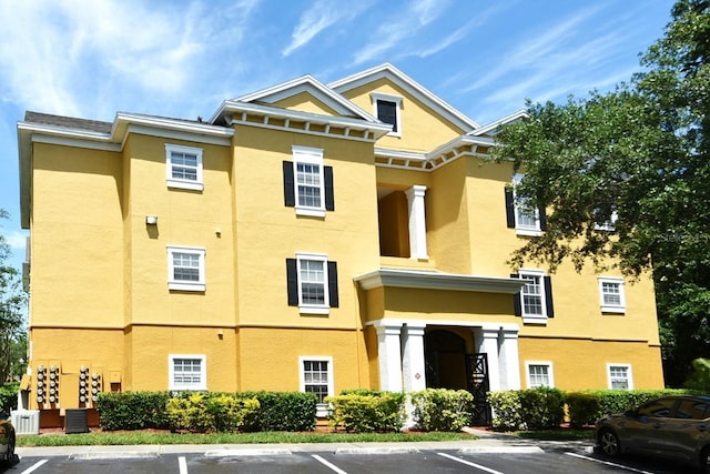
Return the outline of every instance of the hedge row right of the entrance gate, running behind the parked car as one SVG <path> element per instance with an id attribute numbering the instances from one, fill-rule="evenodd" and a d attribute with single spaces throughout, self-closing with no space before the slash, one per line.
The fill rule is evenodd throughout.
<path id="1" fill-rule="evenodd" d="M 688 390 L 590 390 L 562 392 L 530 389 L 490 392 L 493 427 L 500 431 L 549 430 L 565 420 L 572 427 L 594 423 L 610 413 L 623 413 L 649 400 L 666 395 L 691 394 Z"/>

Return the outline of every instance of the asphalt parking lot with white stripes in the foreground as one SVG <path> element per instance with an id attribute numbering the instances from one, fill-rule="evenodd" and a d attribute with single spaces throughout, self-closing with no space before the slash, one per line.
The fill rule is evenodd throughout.
<path id="1" fill-rule="evenodd" d="M 691 473 L 648 458 L 609 462 L 588 443 L 477 440 L 456 443 L 19 448 L 1 473 Z"/>

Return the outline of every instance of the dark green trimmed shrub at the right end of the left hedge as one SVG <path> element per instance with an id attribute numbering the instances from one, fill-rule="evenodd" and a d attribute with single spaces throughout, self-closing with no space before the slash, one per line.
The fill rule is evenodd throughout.
<path id="1" fill-rule="evenodd" d="M 261 409 L 253 427 L 255 431 L 315 430 L 317 399 L 313 393 L 262 391 L 237 395 L 258 401 Z"/>

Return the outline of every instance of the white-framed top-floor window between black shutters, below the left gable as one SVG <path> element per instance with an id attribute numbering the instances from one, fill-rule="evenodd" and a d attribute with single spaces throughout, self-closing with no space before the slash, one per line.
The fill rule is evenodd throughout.
<path id="1" fill-rule="evenodd" d="M 296 214 L 325 216 L 323 150 L 292 147 Z"/>

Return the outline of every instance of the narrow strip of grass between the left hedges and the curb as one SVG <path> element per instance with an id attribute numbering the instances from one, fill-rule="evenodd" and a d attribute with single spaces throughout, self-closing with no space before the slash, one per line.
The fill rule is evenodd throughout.
<path id="1" fill-rule="evenodd" d="M 466 433 L 81 433 L 18 436 L 18 446 L 91 446 L 136 444 L 284 444 L 284 443 L 393 443 L 476 440 Z"/>

